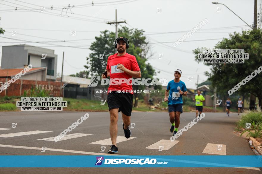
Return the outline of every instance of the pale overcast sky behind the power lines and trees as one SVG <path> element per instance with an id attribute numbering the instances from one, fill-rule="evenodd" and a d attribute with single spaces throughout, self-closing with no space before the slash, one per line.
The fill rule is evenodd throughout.
<path id="1" fill-rule="evenodd" d="M 249 29 L 225 6 L 212 4 L 210 0 L 94 0 L 93 2 L 92 6 L 90 5 L 92 1 L 89 0 L 0 0 L 0 27 L 6 31 L 1 36 L 11 38 L 0 37 L 0 52 L 2 53 L 2 46 L 24 44 L 26 43 L 24 41 L 55 41 L 46 44 L 26 44 L 54 50 L 54 53 L 58 55 L 57 73 L 60 74 L 64 51 L 64 75 L 75 74 L 84 70 L 83 65 L 86 64 L 86 57 L 91 52 L 88 48 L 95 40 L 95 36 L 99 36 L 99 32 L 105 29 L 115 31 L 115 26 L 108 25 L 106 22 L 115 20 L 115 9 L 117 9 L 118 20 L 127 21 L 127 24 L 123 23 L 119 27 L 131 28 L 132 26 L 143 29 L 148 41 L 152 43 L 151 51 L 154 53 L 155 59 L 149 60 L 149 63 L 157 71 L 161 71 L 156 77 L 166 78 L 170 81 L 174 79 L 174 70 L 180 69 L 182 70 L 181 80 L 185 82 L 186 86 L 196 88 L 197 75 L 199 75 L 199 83 L 204 82 L 207 79 L 204 71 L 209 71 L 209 68 L 194 61 L 192 50 L 197 47 L 213 48 L 222 38 L 229 38 L 229 33 Z M 227 5 L 246 23 L 253 25 L 253 0 L 218 0 L 218 2 Z M 260 9 L 260 3 L 261 1 L 258 0 L 258 9 Z M 67 7 L 68 4 L 70 4 L 70 8 L 67 13 L 66 9 L 63 9 L 62 12 L 62 8 Z M 73 5 L 75 7 L 72 8 Z M 50 9 L 51 6 L 53 6 L 53 10 Z M 15 7 L 17 7 L 16 12 Z M 40 7 L 45 7 L 45 10 L 40 12 Z M 222 7 L 220 12 L 217 12 L 217 7 Z M 157 8 L 161 8 L 161 12 L 157 13 Z M 206 25 L 174 48 L 173 42 L 205 18 L 208 19 Z M 17 31 L 16 36 L 11 36 L 12 30 Z M 76 31 L 76 36 L 70 36 L 72 30 Z M 163 34 L 163 32 L 176 33 Z M 61 40 L 78 41 L 58 42 Z M 164 45 L 156 44 L 156 42 L 169 43 L 164 43 Z M 84 49 L 58 47 L 51 44 Z M 159 54 L 163 54 L 162 59 L 158 59 Z M 193 76 L 192 82 L 188 82 L 188 76 Z"/>

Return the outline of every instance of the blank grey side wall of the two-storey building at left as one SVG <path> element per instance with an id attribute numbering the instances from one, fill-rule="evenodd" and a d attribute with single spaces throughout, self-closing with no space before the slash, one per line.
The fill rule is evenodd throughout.
<path id="1" fill-rule="evenodd" d="M 4 46 L 2 48 L 1 68 L 21 68 L 27 64 L 27 50 L 24 45 Z"/>

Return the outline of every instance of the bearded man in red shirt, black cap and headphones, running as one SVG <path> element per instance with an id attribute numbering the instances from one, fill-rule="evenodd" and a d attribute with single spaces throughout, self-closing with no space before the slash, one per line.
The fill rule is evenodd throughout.
<path id="1" fill-rule="evenodd" d="M 110 76 L 110 85 L 108 87 L 107 104 L 110 113 L 110 137 L 112 141 L 110 154 L 118 153 L 116 146 L 118 112 L 122 112 L 123 129 L 126 138 L 131 136 L 129 129 L 130 116 L 132 113 L 133 92 L 132 81 L 127 80 L 132 77 L 141 78 L 140 68 L 135 56 L 126 52 L 129 47 L 129 41 L 125 37 L 119 37 L 115 41 L 117 53 L 110 55 L 107 59 L 107 76 Z M 102 74 L 102 78 L 106 78 Z M 113 79 L 113 83 L 111 80 Z M 125 81 L 125 82 L 124 82 Z"/>

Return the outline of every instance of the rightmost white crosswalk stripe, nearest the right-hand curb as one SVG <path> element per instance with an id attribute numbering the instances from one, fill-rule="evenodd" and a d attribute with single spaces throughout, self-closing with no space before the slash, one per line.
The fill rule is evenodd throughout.
<path id="1" fill-rule="evenodd" d="M 227 145 L 225 145 L 225 144 L 208 143 L 202 153 L 204 153 L 204 154 L 226 155 L 226 149 L 227 149 Z"/>

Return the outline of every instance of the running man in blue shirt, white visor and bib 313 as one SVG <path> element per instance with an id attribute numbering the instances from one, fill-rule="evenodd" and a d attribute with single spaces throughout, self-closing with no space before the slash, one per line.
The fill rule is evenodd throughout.
<path id="1" fill-rule="evenodd" d="M 180 114 L 183 113 L 182 95 L 187 95 L 185 83 L 180 80 L 182 71 L 177 69 L 174 73 L 174 80 L 167 84 L 165 101 L 168 101 L 169 120 L 171 122 L 170 132 L 175 135 L 180 124 Z M 170 92 L 169 92 L 170 90 Z M 167 94 L 169 92 L 169 97 Z M 174 129 L 175 128 L 175 129 Z"/>

